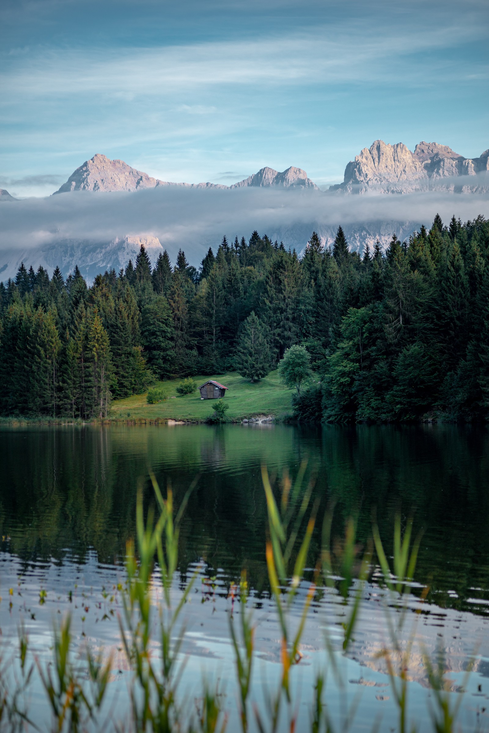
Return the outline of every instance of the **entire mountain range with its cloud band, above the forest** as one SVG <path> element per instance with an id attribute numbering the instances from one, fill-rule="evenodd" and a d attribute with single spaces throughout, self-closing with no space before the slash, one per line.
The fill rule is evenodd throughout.
<path id="1" fill-rule="evenodd" d="M 0 277 L 15 276 L 23 260 L 48 269 L 59 264 L 64 274 L 78 265 L 92 280 L 106 268 L 125 267 L 141 244 L 153 263 L 163 247 L 174 259 L 182 246 L 198 265 L 223 234 L 249 237 L 255 228 L 300 252 L 313 230 L 330 246 L 342 224 L 352 250 L 361 253 L 377 239 L 385 248 L 393 234 L 403 240 L 430 224 L 440 206 L 449 216 L 487 216 L 487 196 L 449 194 L 488 194 L 488 171 L 489 150 L 464 158 L 437 143 L 422 141 L 411 152 L 402 143 L 376 140 L 348 163 L 343 183 L 319 191 L 294 166 L 283 172 L 264 167 L 231 186 L 169 183 L 99 153 L 56 196 L 18 200 L 0 190 L 0 203 L 6 204 L 0 205 Z M 98 192 L 131 195 L 105 198 Z M 350 198 L 369 193 L 411 196 L 406 204 L 399 196 Z"/>

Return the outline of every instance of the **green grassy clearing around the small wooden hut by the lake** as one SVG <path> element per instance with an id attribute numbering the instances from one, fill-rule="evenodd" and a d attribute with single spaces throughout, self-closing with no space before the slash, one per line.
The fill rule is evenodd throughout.
<path id="1" fill-rule="evenodd" d="M 273 415 L 277 419 L 291 415 L 293 393 L 280 383 L 277 370 L 270 372 L 268 377 L 255 384 L 240 377 L 237 372 L 199 375 L 193 378 L 198 387 L 209 379 L 214 379 L 228 387 L 223 399 L 229 405 L 226 417 L 231 421 L 258 415 Z M 174 379 L 158 382 L 158 387 L 168 390 L 168 399 L 156 405 L 147 404 L 146 393 L 115 400 L 112 404 L 110 419 L 206 421 L 212 414 L 214 399 L 201 399 L 198 390 L 193 394 L 180 396 L 176 393 L 180 381 L 180 379 Z"/>

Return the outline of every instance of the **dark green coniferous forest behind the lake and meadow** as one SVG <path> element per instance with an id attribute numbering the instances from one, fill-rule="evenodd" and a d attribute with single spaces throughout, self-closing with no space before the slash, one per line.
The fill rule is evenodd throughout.
<path id="1" fill-rule="evenodd" d="M 489 221 L 479 216 L 378 243 L 362 257 L 341 227 L 304 256 L 253 232 L 225 237 L 199 270 L 183 251 L 152 269 L 144 248 L 91 287 L 20 265 L 0 284 L 0 413 L 103 418 L 155 379 L 237 369 L 259 379 L 292 345 L 313 378 L 301 421 L 489 417 Z"/>

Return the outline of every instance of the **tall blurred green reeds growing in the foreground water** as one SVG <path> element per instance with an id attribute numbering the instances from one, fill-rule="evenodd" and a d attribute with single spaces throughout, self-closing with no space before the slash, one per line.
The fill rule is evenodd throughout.
<path id="1" fill-rule="evenodd" d="M 301 640 L 313 600 L 325 593 L 340 601 L 340 619 L 334 611 L 325 619 L 327 624 L 342 630 L 341 649 L 337 649 L 327 631 L 324 635 L 324 668 L 316 674 L 313 704 L 310 709 L 312 733 L 334 733 L 354 730 L 360 696 L 348 697 L 348 679 L 343 662 L 351 651 L 362 609 L 366 583 L 379 568 L 384 586 L 384 617 L 389 643 L 378 652 L 389 679 L 392 698 L 397 707 L 397 731 L 417 730 L 409 723 L 408 671 L 416 640 L 419 607 L 411 618 L 414 622 L 407 641 L 403 630 L 408 619 L 408 599 L 417 562 L 421 535 L 412 540 L 413 522 L 408 520 L 402 531 L 400 515 L 395 517 L 392 558 L 388 559 L 376 522 L 372 537 L 361 545 L 357 538 L 354 518 L 346 521 L 344 537 L 332 537 L 335 507 L 328 507 L 322 523 L 321 547 L 318 557 L 311 557 L 311 542 L 316 526 L 318 502 L 311 506 L 314 481 L 305 482 L 307 464 L 304 462 L 294 482 L 283 475 L 281 487 L 274 490 L 266 468 L 262 480 L 266 497 L 268 527 L 265 556 L 270 594 L 274 602 L 280 629 L 280 675 L 274 688 L 264 690 L 264 707 L 258 710 L 253 696 L 255 668 L 255 621 L 253 604 L 243 571 L 239 585 L 231 586 L 229 630 L 234 651 L 234 665 L 239 694 L 239 721 L 243 733 L 250 728 L 259 733 L 288 731 L 297 725 L 294 707 L 294 668 L 302 659 Z M 173 605 L 172 583 L 178 564 L 179 531 L 187 501 L 195 482 L 185 494 L 178 511 L 173 505 L 173 492 L 167 487 L 166 497 L 151 475 L 154 506 L 143 512 L 142 488 L 138 487 L 135 541 L 127 543 L 125 573 L 122 587 L 122 614 L 119 630 L 127 663 L 130 668 L 128 690 L 130 697 L 129 727 L 114 720 L 108 710 L 107 693 L 112 674 L 112 658 L 104 661 L 102 653 L 94 657 L 88 647 L 75 646 L 68 614 L 53 628 L 53 659 L 42 664 L 33 658 L 29 639 L 23 626 L 19 627 L 19 647 L 16 663 L 1 654 L 0 648 L 0 727 L 12 731 L 39 729 L 29 714 L 29 690 L 38 674 L 45 693 L 46 707 L 51 711 L 51 729 L 58 733 L 78 733 L 88 730 L 108 730 L 137 733 L 225 733 L 228 714 L 223 709 L 223 690 L 211 685 L 204 677 L 201 689 L 195 691 L 195 706 L 182 701 L 182 677 L 186 658 L 182 652 L 185 637 L 184 606 L 189 600 L 198 570 Z M 279 490 L 280 489 L 280 490 Z M 276 498 L 276 496 L 278 498 Z M 376 562 L 374 562 L 374 553 Z M 390 560 L 390 561 L 389 561 Z M 310 568 L 306 572 L 306 568 Z M 305 574 L 310 580 L 305 580 Z M 299 600 L 299 586 L 302 600 Z M 426 589 L 422 594 L 424 600 Z M 236 615 L 234 603 L 236 603 Z M 291 608 L 299 605 L 298 621 L 294 622 Z M 297 618 L 297 615 L 295 616 Z M 81 657 L 83 657 L 81 659 Z M 432 660 L 423 649 L 425 674 L 432 690 L 428 710 L 433 731 L 455 731 L 463 700 L 450 696 L 445 678 L 441 647 Z M 76 662 L 73 660 L 77 660 Z M 466 678 L 471 671 L 469 660 Z M 329 679 L 334 680 L 340 693 L 340 720 L 335 724 L 324 701 Z M 464 685 L 465 686 L 465 685 Z M 188 696 L 187 696 L 188 699 Z M 378 729 L 379 720 L 371 729 Z"/>

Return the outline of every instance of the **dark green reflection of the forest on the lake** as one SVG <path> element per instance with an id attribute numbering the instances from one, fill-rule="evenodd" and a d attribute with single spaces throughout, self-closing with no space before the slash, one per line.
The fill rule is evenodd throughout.
<path id="1" fill-rule="evenodd" d="M 85 561 L 94 550 L 113 564 L 134 533 L 138 482 L 151 490 L 152 468 L 178 501 L 201 474 L 182 528 L 180 567 L 204 558 L 229 582 L 247 567 L 266 589 L 266 507 L 260 466 L 280 478 L 308 460 L 323 511 L 335 502 L 334 531 L 357 517 L 370 534 L 376 509 L 389 547 L 395 512 L 414 512 L 424 528 L 417 581 L 428 600 L 485 614 L 489 602 L 488 430 L 453 426 L 324 427 L 29 427 L 0 430 L 1 549 L 25 567 Z M 319 537 L 313 542 L 318 550 Z"/>

